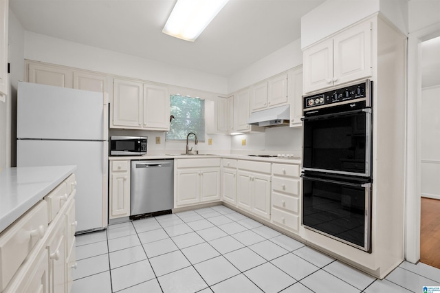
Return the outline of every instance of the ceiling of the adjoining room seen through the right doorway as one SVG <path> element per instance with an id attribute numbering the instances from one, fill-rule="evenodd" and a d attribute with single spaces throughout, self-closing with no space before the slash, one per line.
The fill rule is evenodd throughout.
<path id="1" fill-rule="evenodd" d="M 421 43 L 421 87 L 440 85 L 440 36 Z"/>

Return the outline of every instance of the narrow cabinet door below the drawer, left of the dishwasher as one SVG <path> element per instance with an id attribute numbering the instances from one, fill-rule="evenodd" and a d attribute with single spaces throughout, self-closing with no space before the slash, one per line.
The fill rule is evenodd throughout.
<path id="1" fill-rule="evenodd" d="M 110 217 L 127 217 L 130 215 L 130 178 L 129 173 L 111 174 Z"/>

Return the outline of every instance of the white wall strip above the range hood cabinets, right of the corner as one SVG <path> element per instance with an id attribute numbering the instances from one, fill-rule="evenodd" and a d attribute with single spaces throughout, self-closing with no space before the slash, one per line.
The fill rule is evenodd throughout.
<path id="1" fill-rule="evenodd" d="M 243 89 L 301 64 L 303 64 L 303 52 L 301 51 L 301 40 L 298 39 L 232 74 L 228 78 L 228 93 Z"/>

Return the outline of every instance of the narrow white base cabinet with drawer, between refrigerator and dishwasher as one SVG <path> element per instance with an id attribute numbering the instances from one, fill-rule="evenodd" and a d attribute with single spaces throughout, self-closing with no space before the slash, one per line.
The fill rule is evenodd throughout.
<path id="1" fill-rule="evenodd" d="M 131 161 L 110 161 L 109 219 L 130 215 Z"/>

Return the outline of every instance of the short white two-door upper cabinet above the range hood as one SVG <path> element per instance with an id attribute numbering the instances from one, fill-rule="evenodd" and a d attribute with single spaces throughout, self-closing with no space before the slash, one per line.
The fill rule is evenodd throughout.
<path id="1" fill-rule="evenodd" d="M 287 104 L 287 74 L 274 76 L 251 87 L 252 112 Z"/>

